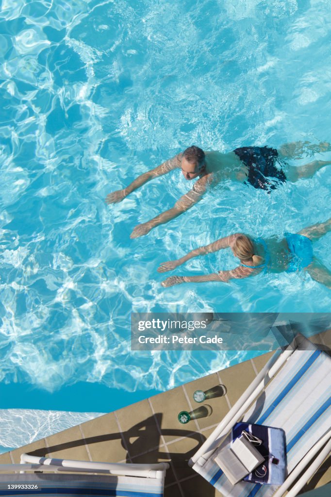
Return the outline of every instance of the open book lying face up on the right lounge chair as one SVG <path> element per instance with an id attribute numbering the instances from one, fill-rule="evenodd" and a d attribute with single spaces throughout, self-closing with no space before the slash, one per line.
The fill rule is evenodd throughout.
<path id="1" fill-rule="evenodd" d="M 232 483 L 240 482 L 263 461 L 264 457 L 244 436 L 222 449 L 214 458 L 225 476 Z"/>

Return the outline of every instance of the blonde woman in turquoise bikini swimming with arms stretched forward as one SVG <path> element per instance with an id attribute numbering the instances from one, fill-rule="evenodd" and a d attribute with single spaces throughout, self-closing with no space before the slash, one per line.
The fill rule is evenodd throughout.
<path id="1" fill-rule="evenodd" d="M 229 271 L 202 276 L 170 276 L 161 284 L 165 287 L 180 283 L 201 283 L 204 281 L 229 281 L 233 278 L 247 278 L 262 271 L 272 273 L 296 272 L 306 269 L 311 277 L 331 288 L 331 271 L 313 255 L 313 241 L 319 240 L 331 231 L 331 218 L 325 223 L 315 224 L 301 230 L 299 233 L 285 233 L 284 238 L 276 237 L 262 240 L 252 239 L 243 233 L 236 233 L 221 238 L 205 247 L 195 248 L 178 260 L 164 262 L 158 271 L 171 271 L 192 257 L 216 252 L 221 248 L 230 247 L 240 265 Z"/>

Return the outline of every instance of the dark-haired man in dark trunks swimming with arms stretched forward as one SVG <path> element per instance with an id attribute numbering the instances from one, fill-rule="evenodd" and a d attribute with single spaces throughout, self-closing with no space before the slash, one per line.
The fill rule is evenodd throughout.
<path id="1" fill-rule="evenodd" d="M 173 169 L 181 169 L 185 179 L 197 179 L 193 188 L 177 200 L 171 209 L 159 214 L 147 223 L 135 227 L 131 238 L 147 235 L 153 228 L 167 223 L 190 209 L 201 200 L 208 186 L 225 179 L 251 184 L 254 188 L 270 191 L 286 180 L 295 182 L 299 178 L 309 178 L 331 161 L 314 161 L 304 166 L 290 166 L 285 160 L 297 158 L 302 152 L 325 152 L 331 150 L 329 143 L 310 145 L 308 142 L 289 143 L 277 151 L 269 147 L 242 147 L 233 152 L 204 152 L 199 147 L 189 147 L 161 166 L 141 174 L 123 190 L 109 193 L 108 204 L 120 202 L 134 190 L 151 179 L 162 176 Z"/>

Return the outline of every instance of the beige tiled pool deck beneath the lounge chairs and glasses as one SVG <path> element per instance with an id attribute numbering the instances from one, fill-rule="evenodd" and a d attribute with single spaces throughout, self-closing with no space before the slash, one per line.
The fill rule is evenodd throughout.
<path id="1" fill-rule="evenodd" d="M 331 331 L 312 341 L 326 346 Z M 218 371 L 124 409 L 87 421 L 37 442 L 0 455 L 0 464 L 19 463 L 27 452 L 43 457 L 103 462 L 156 463 L 167 461 L 165 497 L 218 497 L 221 494 L 188 467 L 187 461 L 239 399 L 272 352 Z M 217 388 L 216 388 L 217 387 Z M 180 424 L 180 411 L 196 411 L 195 390 L 218 390 L 206 400 L 212 413 Z M 200 408 L 201 409 L 201 408 Z M 331 481 L 330 458 L 303 492 Z"/>

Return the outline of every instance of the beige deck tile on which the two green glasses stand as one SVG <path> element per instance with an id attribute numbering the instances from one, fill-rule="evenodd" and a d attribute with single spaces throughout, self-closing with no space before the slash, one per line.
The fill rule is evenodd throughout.
<path id="1" fill-rule="evenodd" d="M 204 405 L 208 405 L 211 408 L 212 413 L 207 417 L 199 417 L 197 423 L 199 428 L 206 428 L 215 423 L 219 423 L 221 419 L 229 412 L 229 406 L 225 398 L 226 389 L 224 385 L 220 385 L 218 376 L 216 373 L 200 378 L 193 382 L 184 385 L 185 391 L 189 397 L 190 403 L 192 405 L 193 411 L 199 410 L 199 408 Z M 193 400 L 193 393 L 196 390 L 203 390 L 207 392 L 207 397 L 201 404 Z M 203 413 L 202 413 L 203 414 Z"/>

